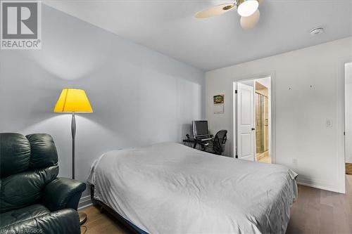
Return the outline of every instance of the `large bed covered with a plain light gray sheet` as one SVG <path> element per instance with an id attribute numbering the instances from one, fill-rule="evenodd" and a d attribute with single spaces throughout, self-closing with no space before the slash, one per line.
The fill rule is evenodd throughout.
<path id="1" fill-rule="evenodd" d="M 297 174 L 178 143 L 106 152 L 93 198 L 138 233 L 285 233 Z"/>

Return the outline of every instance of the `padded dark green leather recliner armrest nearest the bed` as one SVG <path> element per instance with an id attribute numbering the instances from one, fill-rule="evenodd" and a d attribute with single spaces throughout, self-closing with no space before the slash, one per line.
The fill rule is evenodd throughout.
<path id="1" fill-rule="evenodd" d="M 42 202 L 51 212 L 72 208 L 77 210 L 78 202 L 86 184 L 70 178 L 56 178 L 48 183 L 42 194 Z"/>

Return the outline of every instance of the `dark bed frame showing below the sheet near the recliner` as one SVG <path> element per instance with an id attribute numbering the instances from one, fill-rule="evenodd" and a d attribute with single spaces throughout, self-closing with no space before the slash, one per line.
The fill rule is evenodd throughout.
<path id="1" fill-rule="evenodd" d="M 120 214 L 118 214 L 118 212 L 115 212 L 107 204 L 105 204 L 99 200 L 94 199 L 94 186 L 92 186 L 92 185 L 90 186 L 90 197 L 92 199 L 92 203 L 94 204 L 94 206 L 99 207 L 99 210 L 101 213 L 106 211 L 109 214 L 111 214 L 118 221 L 118 223 L 122 224 L 122 226 L 128 231 L 128 233 L 132 233 L 132 234 L 146 233 L 143 230 L 140 230 L 137 226 L 134 226 L 133 223 L 130 223 L 129 221 L 124 219 L 122 216 L 120 216 Z M 146 234 L 148 234 L 148 233 L 146 233 Z"/>

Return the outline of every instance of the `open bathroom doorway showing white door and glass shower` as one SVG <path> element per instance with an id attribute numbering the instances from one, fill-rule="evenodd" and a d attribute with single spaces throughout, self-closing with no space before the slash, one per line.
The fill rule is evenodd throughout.
<path id="1" fill-rule="evenodd" d="M 271 77 L 234 82 L 234 152 L 242 160 L 272 163 Z"/>

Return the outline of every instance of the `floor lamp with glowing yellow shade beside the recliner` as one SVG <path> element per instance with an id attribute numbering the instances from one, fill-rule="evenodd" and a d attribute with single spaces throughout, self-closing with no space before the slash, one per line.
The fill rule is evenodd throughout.
<path id="1" fill-rule="evenodd" d="M 89 103 L 86 93 L 82 89 L 63 89 L 58 101 L 56 102 L 54 112 L 72 113 L 71 133 L 72 133 L 72 178 L 75 179 L 75 135 L 76 119 L 75 113 L 92 113 L 93 109 Z M 87 221 L 87 214 L 83 212 L 80 215 L 80 225 Z"/>

